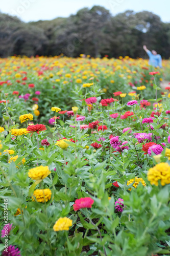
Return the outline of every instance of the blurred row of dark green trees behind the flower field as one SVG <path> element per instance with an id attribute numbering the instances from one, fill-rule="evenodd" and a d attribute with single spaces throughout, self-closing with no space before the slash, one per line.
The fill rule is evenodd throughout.
<path id="1" fill-rule="evenodd" d="M 163 58 L 170 57 L 170 23 L 152 12 L 128 10 L 112 16 L 101 6 L 83 8 L 68 18 L 24 23 L 0 13 L 0 56 L 63 53 L 77 57 L 145 57 L 147 45 Z"/>

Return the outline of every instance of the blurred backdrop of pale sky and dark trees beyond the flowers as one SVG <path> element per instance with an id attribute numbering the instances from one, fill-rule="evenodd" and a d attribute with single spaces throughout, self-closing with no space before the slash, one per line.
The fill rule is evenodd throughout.
<path id="1" fill-rule="evenodd" d="M 0 3 L 0 57 L 64 54 L 170 57 L 168 0 L 6 0 Z"/>

